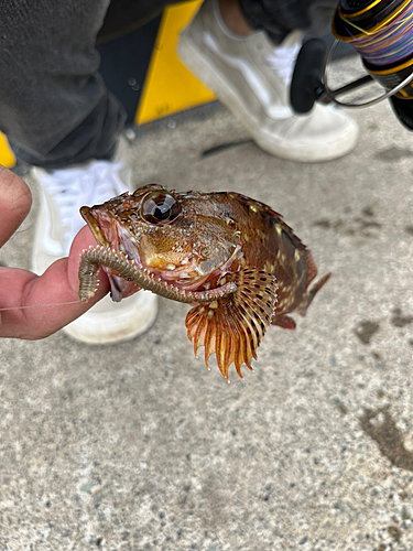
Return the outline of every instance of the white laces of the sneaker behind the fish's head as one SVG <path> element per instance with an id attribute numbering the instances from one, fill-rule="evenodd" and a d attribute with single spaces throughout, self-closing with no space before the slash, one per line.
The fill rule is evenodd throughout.
<path id="1" fill-rule="evenodd" d="M 77 231 L 85 225 L 79 208 L 96 205 L 128 191 L 119 177 L 122 162 L 95 161 L 87 169 L 63 169 L 42 176 L 42 183 L 61 216 L 65 229 L 65 255 Z M 128 175 L 128 180 L 130 174 Z"/>

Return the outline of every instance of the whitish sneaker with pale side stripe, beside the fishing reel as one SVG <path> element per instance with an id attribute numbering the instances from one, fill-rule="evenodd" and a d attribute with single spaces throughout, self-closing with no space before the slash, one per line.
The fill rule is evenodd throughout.
<path id="1" fill-rule="evenodd" d="M 218 1 L 205 0 L 177 52 L 263 150 L 293 161 L 329 161 L 354 149 L 358 129 L 330 106 L 316 104 L 304 116 L 292 111 L 289 91 L 301 41 L 298 31 L 280 46 L 263 31 L 238 36 L 224 23 Z"/>

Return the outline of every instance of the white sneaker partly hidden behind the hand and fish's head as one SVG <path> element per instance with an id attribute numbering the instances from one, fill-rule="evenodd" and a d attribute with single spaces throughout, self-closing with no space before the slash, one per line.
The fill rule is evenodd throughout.
<path id="1" fill-rule="evenodd" d="M 121 161 L 90 161 L 52 173 L 33 168 L 32 173 L 41 191 L 32 257 L 32 270 L 37 274 L 68 255 L 74 237 L 85 225 L 79 214 L 81 206 L 132 191 L 130 172 Z M 120 303 L 108 295 L 63 331 L 84 343 L 117 343 L 144 333 L 156 313 L 157 296 L 150 291 L 139 291 Z"/>

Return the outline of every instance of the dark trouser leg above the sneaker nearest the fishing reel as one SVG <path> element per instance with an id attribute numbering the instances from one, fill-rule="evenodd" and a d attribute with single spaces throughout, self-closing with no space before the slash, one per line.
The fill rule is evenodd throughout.
<path id="1" fill-rule="evenodd" d="M 253 29 L 263 29 L 275 43 L 293 30 L 324 33 L 329 29 L 338 0 L 239 0 Z"/>

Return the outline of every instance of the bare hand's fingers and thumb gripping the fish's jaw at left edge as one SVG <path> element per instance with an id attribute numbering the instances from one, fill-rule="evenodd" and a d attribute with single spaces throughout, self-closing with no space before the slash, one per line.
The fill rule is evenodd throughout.
<path id="1" fill-rule="evenodd" d="M 28 216 L 31 204 L 23 180 L 0 165 L 0 247 Z M 62 304 L 78 301 L 77 271 L 81 251 L 89 245 L 96 241 L 85 227 L 75 237 L 69 257 L 57 260 L 40 277 L 28 270 L 0 267 L 0 337 L 44 338 L 84 314 L 108 292 L 108 279 L 100 272 L 93 300 L 87 304 Z M 13 310 L 1 310 L 8 307 Z"/>

